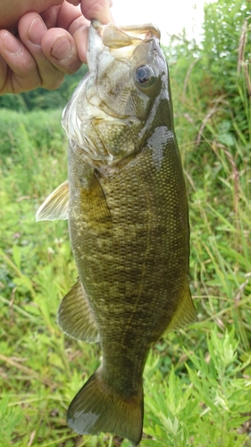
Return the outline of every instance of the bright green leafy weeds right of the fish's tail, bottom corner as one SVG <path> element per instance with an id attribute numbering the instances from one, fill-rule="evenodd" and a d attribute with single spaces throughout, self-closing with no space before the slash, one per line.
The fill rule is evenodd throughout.
<path id="1" fill-rule="evenodd" d="M 251 357 L 239 363 L 234 331 L 221 335 L 216 326 L 207 336 L 207 348 L 206 356 L 202 350 L 185 350 L 189 384 L 175 375 L 173 366 L 164 383 L 158 358 L 148 361 L 146 434 L 154 440 L 143 445 L 238 447 L 245 443 L 246 435 L 238 429 L 248 419 L 245 412 L 250 410 L 251 381 L 239 373 L 250 365 Z M 156 383 L 161 384 L 159 389 Z"/>

